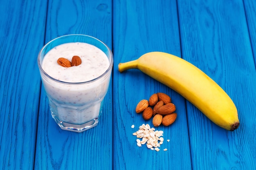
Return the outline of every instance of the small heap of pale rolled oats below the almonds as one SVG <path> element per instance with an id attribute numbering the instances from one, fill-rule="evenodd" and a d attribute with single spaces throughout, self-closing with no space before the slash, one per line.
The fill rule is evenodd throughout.
<path id="1" fill-rule="evenodd" d="M 137 132 L 132 133 L 132 135 L 135 135 L 138 139 L 137 146 L 141 147 L 141 144 L 146 144 L 147 148 L 151 150 L 156 150 L 157 152 L 160 150 L 158 147 L 160 147 L 161 144 L 163 144 L 164 138 L 162 130 L 155 130 L 155 128 L 150 128 L 149 124 L 142 124 L 139 126 L 139 130 Z M 140 140 L 141 139 L 141 140 Z M 158 143 L 158 141 L 160 141 Z"/>

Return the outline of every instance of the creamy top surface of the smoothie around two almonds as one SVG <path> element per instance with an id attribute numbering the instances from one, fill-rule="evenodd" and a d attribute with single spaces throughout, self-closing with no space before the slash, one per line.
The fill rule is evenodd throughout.
<path id="1" fill-rule="evenodd" d="M 79 66 L 63 67 L 57 64 L 58 58 L 72 60 L 77 55 L 82 63 Z M 82 42 L 61 44 L 50 50 L 44 57 L 42 68 L 51 77 L 63 82 L 86 82 L 102 75 L 109 66 L 108 57 L 96 46 Z"/>

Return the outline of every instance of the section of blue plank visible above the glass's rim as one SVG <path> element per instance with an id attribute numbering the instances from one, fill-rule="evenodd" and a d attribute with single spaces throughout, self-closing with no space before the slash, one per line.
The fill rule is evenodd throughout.
<path id="1" fill-rule="evenodd" d="M 85 34 L 112 47 L 112 3 L 49 0 L 46 42 L 67 34 Z"/>

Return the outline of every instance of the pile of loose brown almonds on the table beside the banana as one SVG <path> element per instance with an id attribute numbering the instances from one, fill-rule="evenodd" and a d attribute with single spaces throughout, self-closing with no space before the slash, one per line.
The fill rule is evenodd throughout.
<path id="1" fill-rule="evenodd" d="M 150 96 L 149 100 L 141 100 L 136 107 L 136 113 L 142 113 L 145 120 L 153 117 L 155 127 L 169 126 L 176 120 L 177 114 L 174 113 L 176 107 L 171 103 L 171 97 L 165 93 L 155 93 Z"/>

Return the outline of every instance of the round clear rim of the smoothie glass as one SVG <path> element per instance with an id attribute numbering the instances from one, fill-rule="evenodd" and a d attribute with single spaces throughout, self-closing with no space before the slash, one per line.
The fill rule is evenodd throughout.
<path id="1" fill-rule="evenodd" d="M 53 41 L 59 39 L 59 38 L 63 38 L 63 37 L 68 37 L 68 36 L 84 36 L 84 37 L 89 37 L 89 38 L 92 38 L 94 40 L 97 40 L 99 41 L 101 44 L 103 44 L 104 46 L 106 46 L 107 50 L 109 51 L 110 53 L 110 60 L 109 60 L 109 66 L 108 66 L 108 69 L 103 73 L 101 74 L 99 77 L 96 77 L 94 79 L 91 79 L 91 80 L 88 80 L 88 81 L 85 81 L 85 82 L 64 82 L 64 81 L 61 81 L 61 80 L 58 80 L 58 79 L 55 79 L 54 77 L 48 75 L 42 68 L 41 66 L 41 62 L 40 62 L 40 56 L 43 52 L 43 49 L 45 49 L 46 46 L 48 46 L 50 43 L 52 43 Z M 89 43 L 88 43 L 89 44 Z M 101 49 L 100 49 L 101 50 Z M 101 50 L 102 51 L 102 50 Z M 114 63 L 114 60 L 113 60 L 113 53 L 111 51 L 111 49 L 104 43 L 102 42 L 101 40 L 95 38 L 95 37 L 92 37 L 90 35 L 85 35 L 85 34 L 68 34 L 68 35 L 62 35 L 62 36 L 59 36 L 57 38 L 54 38 L 52 39 L 51 41 L 47 42 L 43 47 L 42 49 L 40 49 L 40 52 L 38 54 L 38 57 L 37 57 L 37 64 L 38 64 L 38 67 L 39 67 L 39 70 L 40 70 L 40 73 L 43 73 L 43 75 L 45 75 L 46 77 L 48 77 L 49 79 L 52 79 L 53 81 L 55 82 L 59 82 L 59 83 L 62 83 L 62 84 L 70 84 L 70 85 L 74 85 L 74 84 L 88 84 L 88 83 L 91 83 L 91 82 L 95 82 L 97 81 L 98 79 L 100 79 L 101 77 L 103 77 L 104 75 L 106 75 L 110 70 L 112 70 L 112 66 L 113 66 L 113 63 Z"/>

